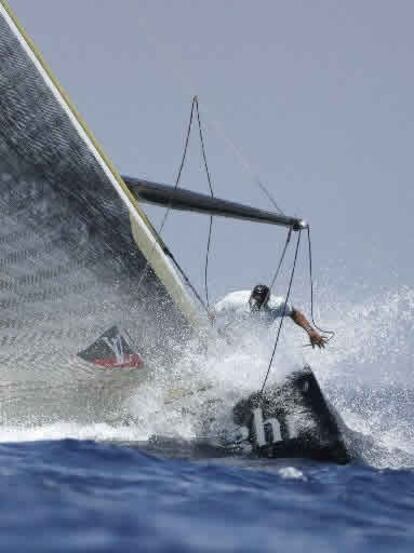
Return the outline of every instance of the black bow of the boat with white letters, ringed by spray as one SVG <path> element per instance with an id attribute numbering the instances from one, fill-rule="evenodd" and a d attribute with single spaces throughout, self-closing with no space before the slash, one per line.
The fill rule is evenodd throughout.
<path id="1" fill-rule="evenodd" d="M 233 419 L 240 429 L 235 446 L 248 444 L 255 456 L 340 464 L 351 460 L 343 423 L 309 367 L 293 373 L 282 385 L 241 400 L 233 409 Z"/>

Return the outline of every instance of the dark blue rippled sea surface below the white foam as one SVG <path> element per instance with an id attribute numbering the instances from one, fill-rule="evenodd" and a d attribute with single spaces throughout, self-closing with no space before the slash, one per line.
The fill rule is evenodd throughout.
<path id="1" fill-rule="evenodd" d="M 2 551 L 413 551 L 414 473 L 0 446 Z"/>

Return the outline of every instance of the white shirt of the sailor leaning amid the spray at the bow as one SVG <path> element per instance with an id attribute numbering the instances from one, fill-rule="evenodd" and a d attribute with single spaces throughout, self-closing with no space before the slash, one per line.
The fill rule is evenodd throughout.
<path id="1" fill-rule="evenodd" d="M 293 309 L 289 304 L 286 304 L 285 298 L 273 295 L 270 296 L 265 307 L 252 311 L 249 305 L 250 296 L 250 290 L 240 290 L 227 294 L 214 307 L 217 320 L 225 324 L 225 319 L 227 319 L 227 322 L 235 320 L 241 322 L 251 319 L 258 323 L 271 325 L 278 317 L 283 315 L 283 310 L 285 310 L 285 316 L 292 315 Z"/>

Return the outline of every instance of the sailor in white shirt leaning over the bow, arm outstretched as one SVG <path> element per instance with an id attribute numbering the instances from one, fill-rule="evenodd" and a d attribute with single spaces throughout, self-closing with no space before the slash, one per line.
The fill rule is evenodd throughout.
<path id="1" fill-rule="evenodd" d="M 283 297 L 274 296 L 265 284 L 257 284 L 252 291 L 240 290 L 231 292 L 216 303 L 211 318 L 218 323 L 219 329 L 226 330 L 235 322 L 243 323 L 253 320 L 258 324 L 270 326 L 277 318 L 290 317 L 293 322 L 308 334 L 314 348 L 324 348 L 326 338 L 319 334 L 309 323 L 305 315 L 286 303 Z"/>

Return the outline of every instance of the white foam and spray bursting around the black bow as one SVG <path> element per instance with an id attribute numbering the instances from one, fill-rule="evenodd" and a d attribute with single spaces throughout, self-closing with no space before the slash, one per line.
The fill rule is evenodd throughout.
<path id="1" fill-rule="evenodd" d="M 374 396 L 362 395 L 364 414 L 356 409 L 354 399 L 358 389 L 370 388 L 373 394 L 384 390 L 386 393 L 390 386 L 414 390 L 410 336 L 414 291 L 403 287 L 359 305 L 337 301 L 326 313 L 324 322 L 337 331 L 337 338 L 324 352 L 301 348 L 306 337 L 290 321 L 286 322 L 269 382 L 309 362 L 345 423 L 381 447 L 381 453 L 365 457 L 368 462 L 376 466 L 414 466 L 414 447 L 410 446 L 414 443 L 411 430 L 414 412 L 401 415 L 398 399 L 391 393 L 389 402 L 381 407 L 373 400 Z M 199 344 L 194 344 L 175 366 L 159 367 L 151 380 L 137 387 L 128 401 L 119 405 L 118 421 L 111 413 L 110 423 L 103 416 L 99 424 L 7 422 L 6 426 L 0 426 L 0 441 L 62 438 L 143 441 L 152 434 L 191 439 L 200 432 L 200 419 L 210 400 L 216 400 L 209 409 L 214 411 L 217 429 L 228 422 L 231 407 L 238 399 L 260 388 L 273 339 L 272 334 L 265 337 L 263 333 L 249 333 L 238 338 L 237 347 L 212 341 L 203 351 Z M 105 404 L 102 412 L 105 415 Z M 125 414 L 132 416 L 133 424 L 125 425 Z M 36 419 L 32 416 L 31 420 Z"/>

